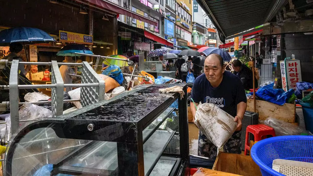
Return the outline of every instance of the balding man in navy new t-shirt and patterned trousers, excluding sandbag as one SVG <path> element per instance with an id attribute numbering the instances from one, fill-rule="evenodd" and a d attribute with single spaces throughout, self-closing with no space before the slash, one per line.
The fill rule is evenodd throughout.
<path id="1" fill-rule="evenodd" d="M 204 74 L 197 77 L 192 86 L 191 98 L 198 106 L 199 102 L 213 103 L 234 117 L 237 129 L 224 144 L 224 152 L 241 153 L 240 134 L 241 120 L 247 108 L 244 87 L 236 75 L 225 71 L 223 58 L 218 54 L 210 54 L 204 61 Z M 196 107 L 190 103 L 191 112 L 196 114 Z M 217 147 L 199 131 L 198 155 L 215 159 Z"/>

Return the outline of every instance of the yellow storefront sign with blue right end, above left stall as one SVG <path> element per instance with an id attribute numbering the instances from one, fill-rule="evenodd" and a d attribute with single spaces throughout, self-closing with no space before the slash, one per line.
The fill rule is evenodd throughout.
<path id="1" fill-rule="evenodd" d="M 68 31 L 59 31 L 60 41 L 77 44 L 93 44 L 93 36 Z"/>

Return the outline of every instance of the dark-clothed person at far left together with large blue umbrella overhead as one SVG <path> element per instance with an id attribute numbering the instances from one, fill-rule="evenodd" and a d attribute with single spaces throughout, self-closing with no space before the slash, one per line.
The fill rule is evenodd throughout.
<path id="1" fill-rule="evenodd" d="M 0 31 L 0 46 L 8 46 L 10 45 L 11 52 L 19 53 L 22 51 L 23 47 L 22 44 L 38 44 L 38 43 L 49 43 L 49 42 L 55 42 L 53 37 L 51 37 L 46 32 L 37 29 L 37 28 L 28 28 L 28 27 L 16 27 L 16 28 L 9 28 Z M 11 55 L 12 56 L 12 55 Z M 27 58 L 27 55 L 26 55 Z M 12 60 L 20 60 L 19 57 L 9 57 L 4 59 L 12 59 Z M 28 60 L 28 59 L 27 59 Z M 2 85 L 9 85 L 9 79 L 10 79 L 10 71 L 11 66 L 7 66 L 5 69 L 3 69 L 0 72 L 0 76 L 3 78 L 1 84 Z M 19 66 L 19 75 L 18 75 L 18 82 L 19 85 L 31 85 L 32 83 L 28 80 L 28 78 L 25 76 L 25 72 L 23 71 L 23 67 Z M 19 89 L 19 98 L 23 102 L 24 96 L 28 92 L 38 92 L 37 89 Z M 9 97 L 1 97 L 2 101 L 8 101 Z"/>

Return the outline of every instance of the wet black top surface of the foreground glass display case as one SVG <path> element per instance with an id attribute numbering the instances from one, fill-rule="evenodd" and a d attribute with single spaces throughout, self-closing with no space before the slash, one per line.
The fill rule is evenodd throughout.
<path id="1" fill-rule="evenodd" d="M 159 89 L 173 85 L 154 85 L 136 91 L 133 94 L 103 104 L 93 110 L 77 116 L 74 119 L 94 119 L 110 121 L 138 122 L 167 99 L 172 99 L 175 93 L 160 93 Z"/>

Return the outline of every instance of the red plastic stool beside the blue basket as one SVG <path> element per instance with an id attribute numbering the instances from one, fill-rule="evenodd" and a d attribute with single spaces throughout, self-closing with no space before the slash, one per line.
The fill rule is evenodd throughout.
<path id="1" fill-rule="evenodd" d="M 275 130 L 272 127 L 266 125 L 248 125 L 246 130 L 246 142 L 244 145 L 244 155 L 247 155 L 247 151 L 250 151 L 249 132 L 254 135 L 254 141 L 260 141 L 265 139 L 267 135 L 275 137 Z"/>

